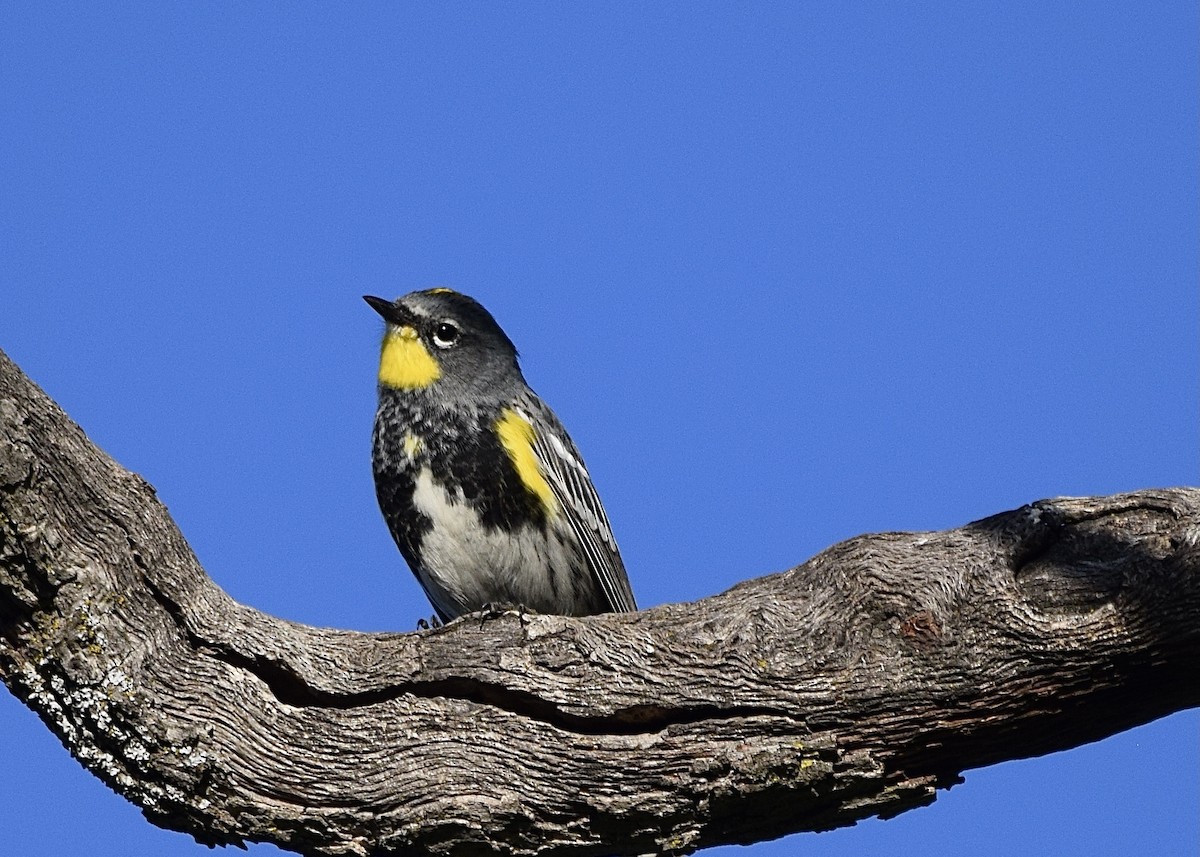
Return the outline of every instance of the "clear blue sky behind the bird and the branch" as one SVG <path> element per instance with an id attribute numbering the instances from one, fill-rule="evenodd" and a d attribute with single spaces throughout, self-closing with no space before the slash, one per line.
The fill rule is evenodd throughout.
<path id="1" fill-rule="evenodd" d="M 5 5 L 0 348 L 226 591 L 338 628 L 430 613 L 365 293 L 493 311 L 643 606 L 1196 484 L 1196 4 L 899 6 Z M 1198 727 L 745 853 L 1193 855 Z M 6 852 L 210 853 L 5 693 L 0 760 Z"/>

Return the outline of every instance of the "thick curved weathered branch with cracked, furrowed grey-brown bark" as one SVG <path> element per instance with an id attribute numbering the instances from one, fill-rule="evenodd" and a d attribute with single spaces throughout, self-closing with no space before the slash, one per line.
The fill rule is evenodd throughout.
<path id="1" fill-rule="evenodd" d="M 883 533 L 694 604 L 284 622 L 0 353 L 0 673 L 157 825 L 313 855 L 688 852 L 1200 705 L 1200 490 Z"/>

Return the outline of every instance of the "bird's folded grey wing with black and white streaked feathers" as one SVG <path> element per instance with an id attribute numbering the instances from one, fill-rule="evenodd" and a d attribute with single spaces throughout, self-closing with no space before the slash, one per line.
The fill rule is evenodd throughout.
<path id="1" fill-rule="evenodd" d="M 550 408 L 539 400 L 522 404 L 536 412 L 536 418 L 530 420 L 535 426 L 534 456 L 583 547 L 588 565 L 608 599 L 608 606 L 613 612 L 636 611 L 637 604 L 629 586 L 625 564 L 620 561 L 608 516 L 583 466 L 583 459 Z M 539 426 L 548 426 L 550 430 L 539 430 Z"/>

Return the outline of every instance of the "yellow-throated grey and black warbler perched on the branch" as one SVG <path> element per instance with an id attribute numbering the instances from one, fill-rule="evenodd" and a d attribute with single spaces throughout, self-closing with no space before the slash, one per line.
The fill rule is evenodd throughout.
<path id="1" fill-rule="evenodd" d="M 637 610 L 583 460 L 491 313 L 448 288 L 364 300 L 388 323 L 376 496 L 438 616 Z"/>

